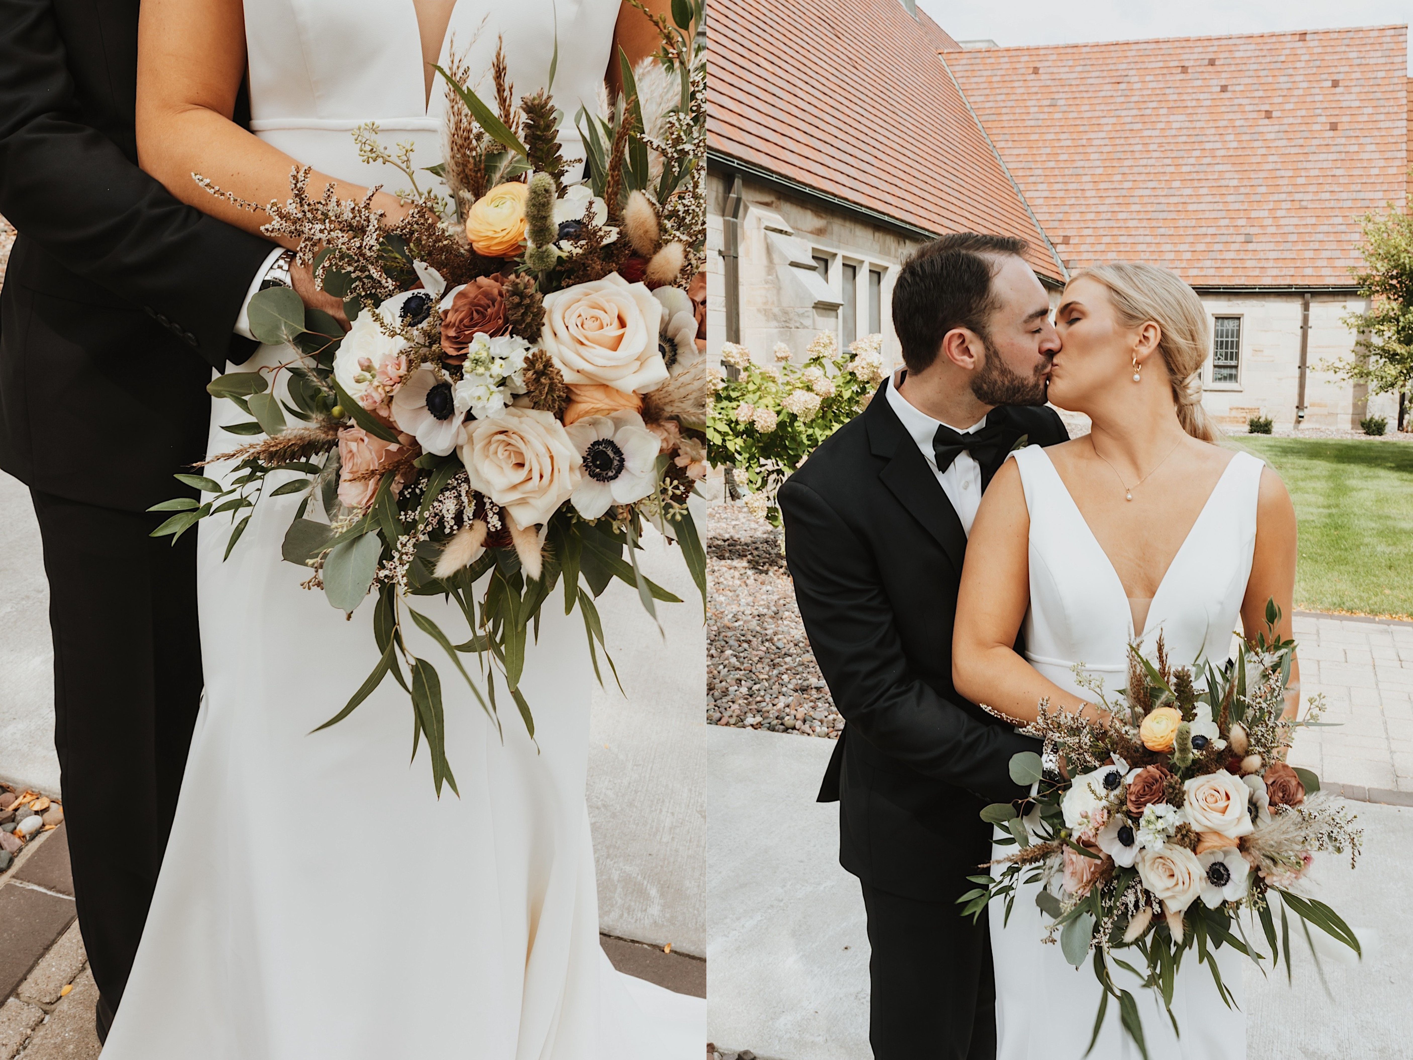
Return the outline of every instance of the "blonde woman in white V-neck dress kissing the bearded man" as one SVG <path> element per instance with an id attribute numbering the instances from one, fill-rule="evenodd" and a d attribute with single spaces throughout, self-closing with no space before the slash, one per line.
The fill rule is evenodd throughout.
<path id="1" fill-rule="evenodd" d="M 1128 644 L 1153 657 L 1159 633 L 1177 663 L 1224 661 L 1238 619 L 1265 629 L 1282 609 L 1290 636 L 1296 519 L 1284 485 L 1255 457 L 1212 442 L 1200 370 L 1207 314 L 1193 290 L 1152 266 L 1099 266 L 1065 287 L 1056 314 L 1063 341 L 1050 400 L 1085 413 L 1092 432 L 1013 454 L 986 490 L 966 548 L 952 650 L 957 690 L 1019 722 L 1037 704 L 1094 717 L 1071 667 L 1126 681 Z M 1013 650 L 1023 633 L 1024 657 Z M 1299 670 L 1291 677 L 1299 687 Z M 996 856 L 1009 852 L 998 847 Z M 1088 962 L 1041 944 L 1039 885 L 1024 888 L 1009 924 L 991 910 L 998 1060 L 1080 1060 L 1099 1006 Z M 1217 951 L 1222 981 L 1242 1003 L 1243 957 Z M 1129 961 L 1130 964 L 1133 960 Z M 1142 958 L 1137 958 L 1142 965 Z M 1163 1005 L 1140 979 L 1113 970 L 1139 1003 L 1150 1060 L 1236 1060 L 1246 1019 L 1218 996 L 1195 954 Z M 1139 1056 L 1109 1005 L 1089 1056 Z"/>

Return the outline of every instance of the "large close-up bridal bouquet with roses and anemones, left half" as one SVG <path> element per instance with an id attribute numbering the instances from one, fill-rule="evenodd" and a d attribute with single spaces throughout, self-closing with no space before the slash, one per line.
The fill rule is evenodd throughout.
<path id="1" fill-rule="evenodd" d="M 705 247 L 705 69 L 691 38 L 702 8 L 678 0 L 675 25 L 654 18 L 657 55 L 637 69 L 622 57 L 623 95 L 599 113 L 581 109 L 582 184 L 569 179 L 582 160 L 561 151 L 562 112 L 548 90 L 516 103 L 500 52 L 495 106 L 462 64 L 438 68 L 448 83 L 438 165 L 417 170 L 413 146 L 386 150 L 376 126 L 356 131 L 366 161 L 411 181 L 398 191 L 411 202 L 404 220 L 384 223 L 377 188 L 362 202 L 339 202 L 332 188 L 315 199 L 309 170 L 295 171 L 264 230 L 298 242 L 298 260 L 343 300 L 352 328 L 290 288 L 257 294 L 250 328 L 288 359 L 208 387 L 249 416 L 223 430 L 250 441 L 208 461 L 233 462 L 223 481 L 177 476 L 209 499 L 157 506 L 175 512 L 158 536 L 229 514 L 229 555 L 261 495 L 302 496 L 283 558 L 338 612 L 372 595 L 377 647 L 367 680 L 321 728 L 391 674 L 411 697 L 413 755 L 425 736 L 438 794 L 444 783 L 456 790 L 441 680 L 411 653 L 408 619 L 497 725 L 499 674 L 533 736 L 519 687 L 527 632 L 558 585 L 565 613 L 584 618 L 595 673 L 605 644 L 593 599 L 613 578 L 650 613 L 654 601 L 677 601 L 639 568 L 644 523 L 681 547 L 705 599 L 687 506 L 706 473 L 702 428 L 719 383 L 687 294 Z M 418 187 L 428 171 L 448 195 Z M 452 637 L 418 596 L 454 601 L 468 632 Z M 462 656 L 479 660 L 480 681 Z"/>

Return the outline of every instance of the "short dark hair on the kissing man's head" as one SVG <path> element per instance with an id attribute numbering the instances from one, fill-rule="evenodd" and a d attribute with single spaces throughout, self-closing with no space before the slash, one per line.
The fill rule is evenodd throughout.
<path id="1" fill-rule="evenodd" d="M 893 284 L 893 329 L 909 372 L 937 360 L 942 336 L 954 328 L 986 335 L 996 308 L 991 281 L 1002 254 L 1022 256 L 1029 243 L 1015 236 L 958 232 L 923 243 L 903 263 Z"/>

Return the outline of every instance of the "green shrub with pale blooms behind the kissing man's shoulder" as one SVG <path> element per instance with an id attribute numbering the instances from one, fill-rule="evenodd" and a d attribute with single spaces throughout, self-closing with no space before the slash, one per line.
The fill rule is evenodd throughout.
<path id="1" fill-rule="evenodd" d="M 776 490 L 820 442 L 868 404 L 883 380 L 883 336 L 869 335 L 839 352 L 832 332 L 814 336 L 803 365 L 790 363 L 790 348 L 774 349 L 776 363 L 757 365 L 750 351 L 728 342 L 721 359 L 740 369 L 716 391 L 706 421 L 706 458 L 736 468 L 750 490 L 746 506 L 780 526 Z"/>

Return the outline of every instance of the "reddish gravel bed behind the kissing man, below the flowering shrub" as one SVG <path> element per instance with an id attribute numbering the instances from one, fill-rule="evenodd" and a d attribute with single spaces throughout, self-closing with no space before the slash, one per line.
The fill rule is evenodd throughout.
<path id="1" fill-rule="evenodd" d="M 804 635 L 780 531 L 716 505 L 706 555 L 706 724 L 836 739 L 844 718 Z"/>

